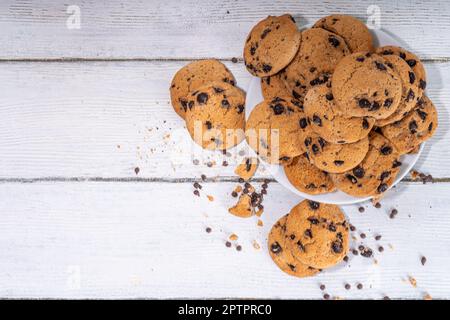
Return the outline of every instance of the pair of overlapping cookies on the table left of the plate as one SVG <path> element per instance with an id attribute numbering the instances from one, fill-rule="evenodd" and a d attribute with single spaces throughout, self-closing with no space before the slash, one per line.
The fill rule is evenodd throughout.
<path id="1" fill-rule="evenodd" d="M 199 60 L 181 68 L 172 79 L 170 98 L 204 149 L 226 150 L 244 139 L 245 92 L 220 61 Z"/>

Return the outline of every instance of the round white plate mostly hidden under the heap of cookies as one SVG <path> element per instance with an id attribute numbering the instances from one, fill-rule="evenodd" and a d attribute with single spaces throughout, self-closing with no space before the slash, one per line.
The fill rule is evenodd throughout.
<path id="1" fill-rule="evenodd" d="M 305 28 L 308 28 L 311 26 L 305 26 Z M 378 42 L 379 46 L 385 46 L 385 45 L 395 45 L 395 46 L 402 46 L 402 43 L 399 40 L 396 40 L 392 36 L 390 36 L 387 32 L 379 29 L 379 30 L 372 30 L 372 33 L 375 37 L 375 41 Z M 246 117 L 250 115 L 250 112 L 253 110 L 253 108 L 263 101 L 263 96 L 261 92 L 261 82 L 260 78 L 253 77 L 253 79 L 250 81 L 250 85 L 247 90 L 247 98 L 246 98 L 246 106 L 245 106 L 245 113 Z M 405 177 L 405 175 L 408 174 L 408 172 L 411 170 L 411 168 L 414 166 L 414 164 L 419 159 L 420 154 L 422 153 L 424 147 L 424 143 L 422 143 L 420 150 L 417 154 L 412 155 L 404 155 L 401 157 L 400 161 L 402 162 L 402 166 L 400 167 L 400 172 L 397 176 L 397 179 L 394 181 L 392 186 L 396 185 L 400 180 Z M 250 148 L 249 148 L 250 149 Z M 255 154 L 255 153 L 253 153 Z M 323 203 L 332 203 L 332 204 L 339 204 L 339 205 L 345 205 L 345 204 L 353 204 L 358 202 L 363 202 L 368 199 L 371 199 L 372 197 L 366 197 L 366 198 L 357 198 L 352 197 L 342 191 L 335 191 L 327 194 L 320 194 L 320 195 L 310 195 L 307 193 L 303 193 L 299 190 L 297 190 L 287 179 L 283 167 L 280 165 L 273 165 L 265 162 L 260 158 L 261 163 L 263 163 L 270 174 L 274 177 L 275 180 L 277 180 L 281 185 L 292 191 L 293 193 L 297 194 L 298 196 L 318 202 Z M 392 188 L 391 186 L 391 188 Z"/>

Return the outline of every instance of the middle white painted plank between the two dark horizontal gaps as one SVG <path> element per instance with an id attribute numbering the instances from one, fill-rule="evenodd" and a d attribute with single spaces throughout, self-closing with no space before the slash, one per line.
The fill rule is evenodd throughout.
<path id="1" fill-rule="evenodd" d="M 190 138 L 168 88 L 185 63 L 1 64 L 0 178 L 135 177 L 135 167 L 146 178 L 233 175 L 219 159 L 213 168 L 194 166 L 182 148 Z M 227 65 L 246 89 L 243 64 Z M 450 63 L 427 70 L 440 127 L 417 168 L 450 177 Z"/>

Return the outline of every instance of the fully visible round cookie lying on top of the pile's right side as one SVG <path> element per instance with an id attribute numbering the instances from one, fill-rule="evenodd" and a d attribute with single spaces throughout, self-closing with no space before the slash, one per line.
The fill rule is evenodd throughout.
<path id="1" fill-rule="evenodd" d="M 345 117 L 386 119 L 402 97 L 399 75 L 379 55 L 358 52 L 337 65 L 331 80 L 336 104 Z"/>

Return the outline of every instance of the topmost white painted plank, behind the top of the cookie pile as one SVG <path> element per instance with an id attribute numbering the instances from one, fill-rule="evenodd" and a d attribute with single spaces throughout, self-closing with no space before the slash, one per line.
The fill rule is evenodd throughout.
<path id="1" fill-rule="evenodd" d="M 67 28 L 69 5 L 80 8 L 80 29 Z M 7 0 L 0 3 L 0 58 L 240 57 L 251 27 L 269 14 L 289 12 L 301 25 L 331 13 L 367 21 L 373 5 L 381 27 L 421 57 L 450 57 L 445 0 Z"/>

